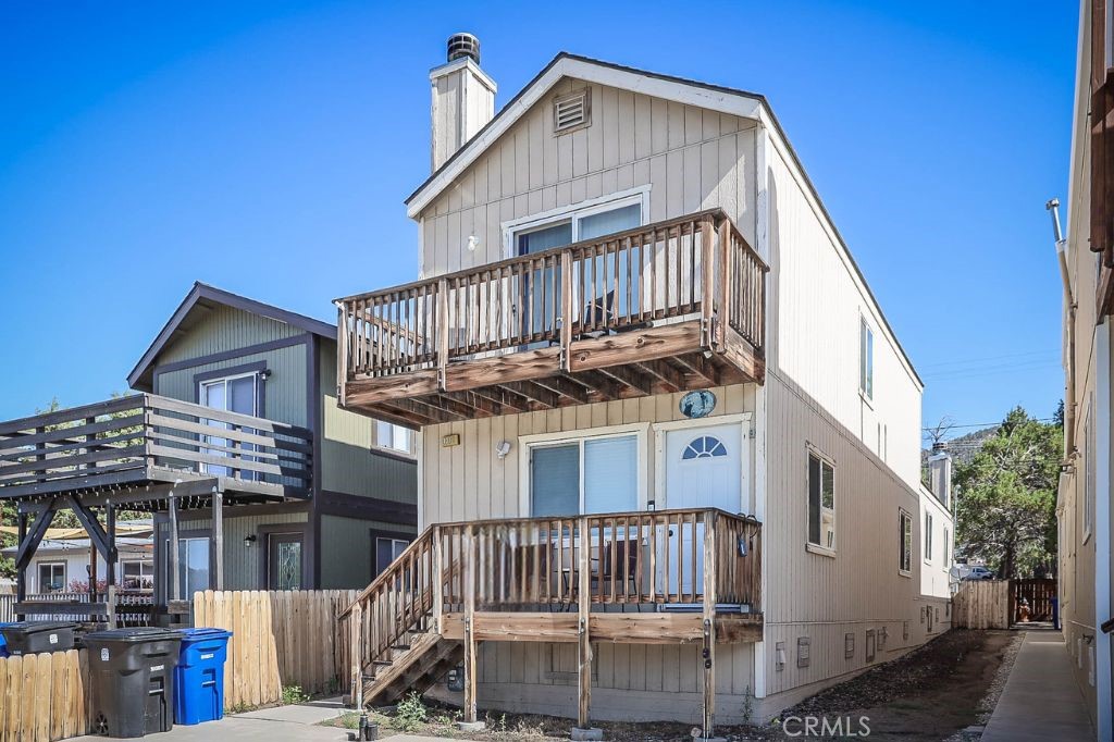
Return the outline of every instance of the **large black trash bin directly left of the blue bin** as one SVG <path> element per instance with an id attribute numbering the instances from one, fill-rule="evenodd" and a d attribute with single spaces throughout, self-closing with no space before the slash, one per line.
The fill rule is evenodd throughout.
<path id="1" fill-rule="evenodd" d="M 97 734 L 143 736 L 174 726 L 174 668 L 182 635 L 167 628 L 86 634 Z"/>

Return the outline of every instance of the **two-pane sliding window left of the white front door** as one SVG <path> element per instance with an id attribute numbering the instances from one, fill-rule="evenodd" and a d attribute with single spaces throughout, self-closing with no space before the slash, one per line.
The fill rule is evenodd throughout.
<path id="1" fill-rule="evenodd" d="M 638 509 L 638 436 L 529 447 L 530 514 L 575 516 Z"/>

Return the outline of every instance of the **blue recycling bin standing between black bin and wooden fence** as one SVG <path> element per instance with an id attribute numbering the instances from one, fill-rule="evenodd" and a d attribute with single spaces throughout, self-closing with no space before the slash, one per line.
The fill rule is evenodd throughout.
<path id="1" fill-rule="evenodd" d="M 223 628 L 182 629 L 174 670 L 175 723 L 199 724 L 224 716 L 224 661 L 231 636 Z"/>

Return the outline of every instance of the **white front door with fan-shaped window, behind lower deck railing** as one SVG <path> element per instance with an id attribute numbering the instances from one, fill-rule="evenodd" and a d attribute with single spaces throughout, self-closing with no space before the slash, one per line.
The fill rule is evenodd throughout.
<path id="1" fill-rule="evenodd" d="M 721 424 L 686 424 L 661 431 L 658 456 L 664 459 L 663 497 L 659 509 L 720 508 L 726 512 L 743 512 L 743 466 L 750 439 L 743 437 L 740 422 Z M 659 469 L 661 471 L 661 469 Z M 664 500 L 664 501 L 663 501 Z M 695 595 L 701 590 L 704 575 L 704 549 L 696 548 L 704 541 L 704 524 L 680 526 L 671 530 L 668 540 L 670 564 L 681 566 L 670 575 L 659 574 L 658 584 L 668 585 L 670 592 Z M 696 570 L 685 568 L 688 555 L 695 551 Z M 682 556 L 683 555 L 683 556 Z M 663 560 L 657 559 L 658 572 Z"/>

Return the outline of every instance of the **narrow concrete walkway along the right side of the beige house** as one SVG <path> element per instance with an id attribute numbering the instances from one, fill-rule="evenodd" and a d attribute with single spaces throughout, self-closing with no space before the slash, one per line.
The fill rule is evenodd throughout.
<path id="1" fill-rule="evenodd" d="M 1094 739 L 1063 634 L 1049 629 L 1025 632 L 1006 687 L 983 732 L 983 742 Z"/>

